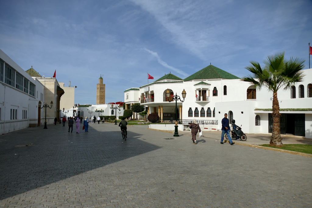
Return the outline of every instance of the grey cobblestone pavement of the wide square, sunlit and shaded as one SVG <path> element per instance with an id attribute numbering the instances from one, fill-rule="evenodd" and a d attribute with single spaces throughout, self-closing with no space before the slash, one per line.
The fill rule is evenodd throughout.
<path id="1" fill-rule="evenodd" d="M 123 141 L 110 123 L 67 131 L 0 136 L 0 207 L 312 207 L 309 157 L 137 127 Z"/>

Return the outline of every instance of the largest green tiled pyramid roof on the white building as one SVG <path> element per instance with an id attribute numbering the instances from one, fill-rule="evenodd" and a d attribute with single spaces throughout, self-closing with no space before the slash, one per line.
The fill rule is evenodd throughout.
<path id="1" fill-rule="evenodd" d="M 209 79 L 240 79 L 240 78 L 210 64 L 209 66 L 203 68 L 202 70 L 197 71 L 195 74 L 185 78 L 184 81 L 209 80 Z"/>

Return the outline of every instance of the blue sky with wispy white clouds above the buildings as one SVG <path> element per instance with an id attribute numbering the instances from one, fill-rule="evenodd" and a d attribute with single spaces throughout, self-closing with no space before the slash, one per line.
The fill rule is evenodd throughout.
<path id="1" fill-rule="evenodd" d="M 147 73 L 184 79 L 211 62 L 242 77 L 250 60 L 280 51 L 309 66 L 312 1 L 10 0 L 0 8 L 0 49 L 24 70 L 56 70 L 59 82 L 77 85 L 80 104 L 95 104 L 100 74 L 108 103 L 147 84 Z"/>

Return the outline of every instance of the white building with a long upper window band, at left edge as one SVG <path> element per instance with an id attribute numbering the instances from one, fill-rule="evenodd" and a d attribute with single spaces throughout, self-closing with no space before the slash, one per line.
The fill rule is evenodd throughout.
<path id="1" fill-rule="evenodd" d="M 41 124 L 44 86 L 0 50 L 0 133 Z"/>

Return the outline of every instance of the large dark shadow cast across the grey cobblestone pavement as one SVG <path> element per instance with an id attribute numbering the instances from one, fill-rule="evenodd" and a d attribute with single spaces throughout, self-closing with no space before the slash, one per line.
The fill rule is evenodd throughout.
<path id="1" fill-rule="evenodd" d="M 67 126 L 48 125 L 0 136 L 0 199 L 159 149 L 129 130 L 123 141 L 111 126 L 97 131 L 89 125 L 88 133 L 80 126 L 80 134 L 74 129 L 68 133 Z M 31 143 L 35 146 L 14 147 Z"/>

